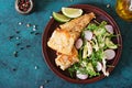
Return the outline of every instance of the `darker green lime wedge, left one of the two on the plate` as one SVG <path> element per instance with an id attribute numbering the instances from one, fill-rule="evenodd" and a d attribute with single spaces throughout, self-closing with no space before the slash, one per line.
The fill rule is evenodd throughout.
<path id="1" fill-rule="evenodd" d="M 56 12 L 53 12 L 53 18 L 58 22 L 67 22 L 70 20 L 69 18 Z"/>

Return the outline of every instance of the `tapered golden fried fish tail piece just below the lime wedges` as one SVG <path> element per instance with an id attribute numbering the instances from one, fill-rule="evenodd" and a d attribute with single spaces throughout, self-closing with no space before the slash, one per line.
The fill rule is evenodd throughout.
<path id="1" fill-rule="evenodd" d="M 67 29 L 67 31 L 77 31 L 81 32 L 84 28 L 94 19 L 96 18 L 94 12 L 88 14 L 84 14 L 77 19 L 72 20 L 65 24 L 59 25 L 61 29 Z"/>

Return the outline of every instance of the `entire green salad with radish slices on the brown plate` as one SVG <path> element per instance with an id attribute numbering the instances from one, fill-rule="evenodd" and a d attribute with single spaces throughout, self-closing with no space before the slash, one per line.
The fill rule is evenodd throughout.
<path id="1" fill-rule="evenodd" d="M 79 62 L 68 68 L 70 76 L 74 73 L 79 79 L 92 78 L 101 73 L 109 76 L 107 68 L 114 66 L 108 63 L 114 58 L 114 50 L 118 48 L 118 44 L 112 41 L 116 36 L 112 25 L 106 21 L 89 23 L 75 43 Z"/>

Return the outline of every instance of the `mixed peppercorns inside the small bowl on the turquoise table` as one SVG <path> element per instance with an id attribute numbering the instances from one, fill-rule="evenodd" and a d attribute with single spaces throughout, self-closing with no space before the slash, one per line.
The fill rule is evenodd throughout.
<path id="1" fill-rule="evenodd" d="M 31 2 L 30 0 L 20 0 L 18 7 L 21 11 L 26 12 L 31 7 Z"/>

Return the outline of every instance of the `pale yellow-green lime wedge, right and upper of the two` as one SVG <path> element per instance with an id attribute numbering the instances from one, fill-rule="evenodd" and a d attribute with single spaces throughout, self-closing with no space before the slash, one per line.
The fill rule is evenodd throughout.
<path id="1" fill-rule="evenodd" d="M 75 9 L 75 8 L 62 8 L 62 12 L 64 15 L 68 18 L 78 18 L 82 14 L 81 9 Z"/>

